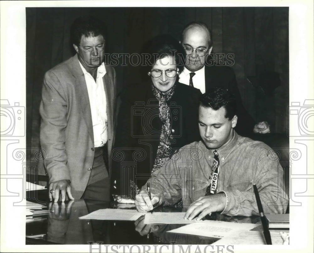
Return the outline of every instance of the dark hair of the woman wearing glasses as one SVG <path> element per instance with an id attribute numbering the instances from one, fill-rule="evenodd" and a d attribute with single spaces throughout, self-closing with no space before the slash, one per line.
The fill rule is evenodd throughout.
<path id="1" fill-rule="evenodd" d="M 183 70 L 186 52 L 182 45 L 170 34 L 162 34 L 152 38 L 145 43 L 143 52 L 148 53 L 150 56 L 149 62 L 151 66 L 148 66 L 148 71 L 154 66 L 157 60 L 166 56 L 173 56 L 179 71 Z"/>

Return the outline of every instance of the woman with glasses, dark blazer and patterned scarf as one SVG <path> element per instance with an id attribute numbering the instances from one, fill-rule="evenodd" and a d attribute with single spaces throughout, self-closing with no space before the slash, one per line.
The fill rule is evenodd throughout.
<path id="1" fill-rule="evenodd" d="M 115 200 L 132 203 L 150 175 L 184 145 L 200 140 L 201 92 L 179 83 L 185 51 L 170 35 L 149 43 L 148 82 L 127 87 L 121 95 L 111 188 Z M 147 52 L 147 51 L 146 51 Z"/>

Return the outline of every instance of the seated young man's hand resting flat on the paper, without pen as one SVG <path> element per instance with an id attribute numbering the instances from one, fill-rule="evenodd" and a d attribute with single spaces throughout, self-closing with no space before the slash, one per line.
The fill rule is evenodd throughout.
<path id="1" fill-rule="evenodd" d="M 201 220 L 209 213 L 224 210 L 226 203 L 227 198 L 225 196 L 225 193 L 218 193 L 200 197 L 196 201 L 194 201 L 187 209 L 184 219 L 191 220 L 199 214 L 196 220 Z"/>

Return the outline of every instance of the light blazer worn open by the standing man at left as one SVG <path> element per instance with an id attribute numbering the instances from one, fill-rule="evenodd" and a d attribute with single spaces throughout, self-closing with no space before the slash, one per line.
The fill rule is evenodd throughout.
<path id="1" fill-rule="evenodd" d="M 108 161 L 116 126 L 116 73 L 106 66 L 103 77 L 107 101 Z M 94 134 L 89 97 L 78 56 L 74 55 L 47 71 L 40 104 L 41 148 L 49 182 L 71 180 L 72 195 L 81 198 L 94 160 Z"/>

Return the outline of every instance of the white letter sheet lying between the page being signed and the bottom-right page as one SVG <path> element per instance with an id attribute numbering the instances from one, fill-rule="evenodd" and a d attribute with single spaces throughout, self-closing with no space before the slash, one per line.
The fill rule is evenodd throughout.
<path id="1" fill-rule="evenodd" d="M 222 238 L 227 235 L 232 235 L 240 229 L 250 230 L 257 226 L 259 225 L 251 223 L 204 220 L 201 223 L 189 224 L 168 232 Z"/>

